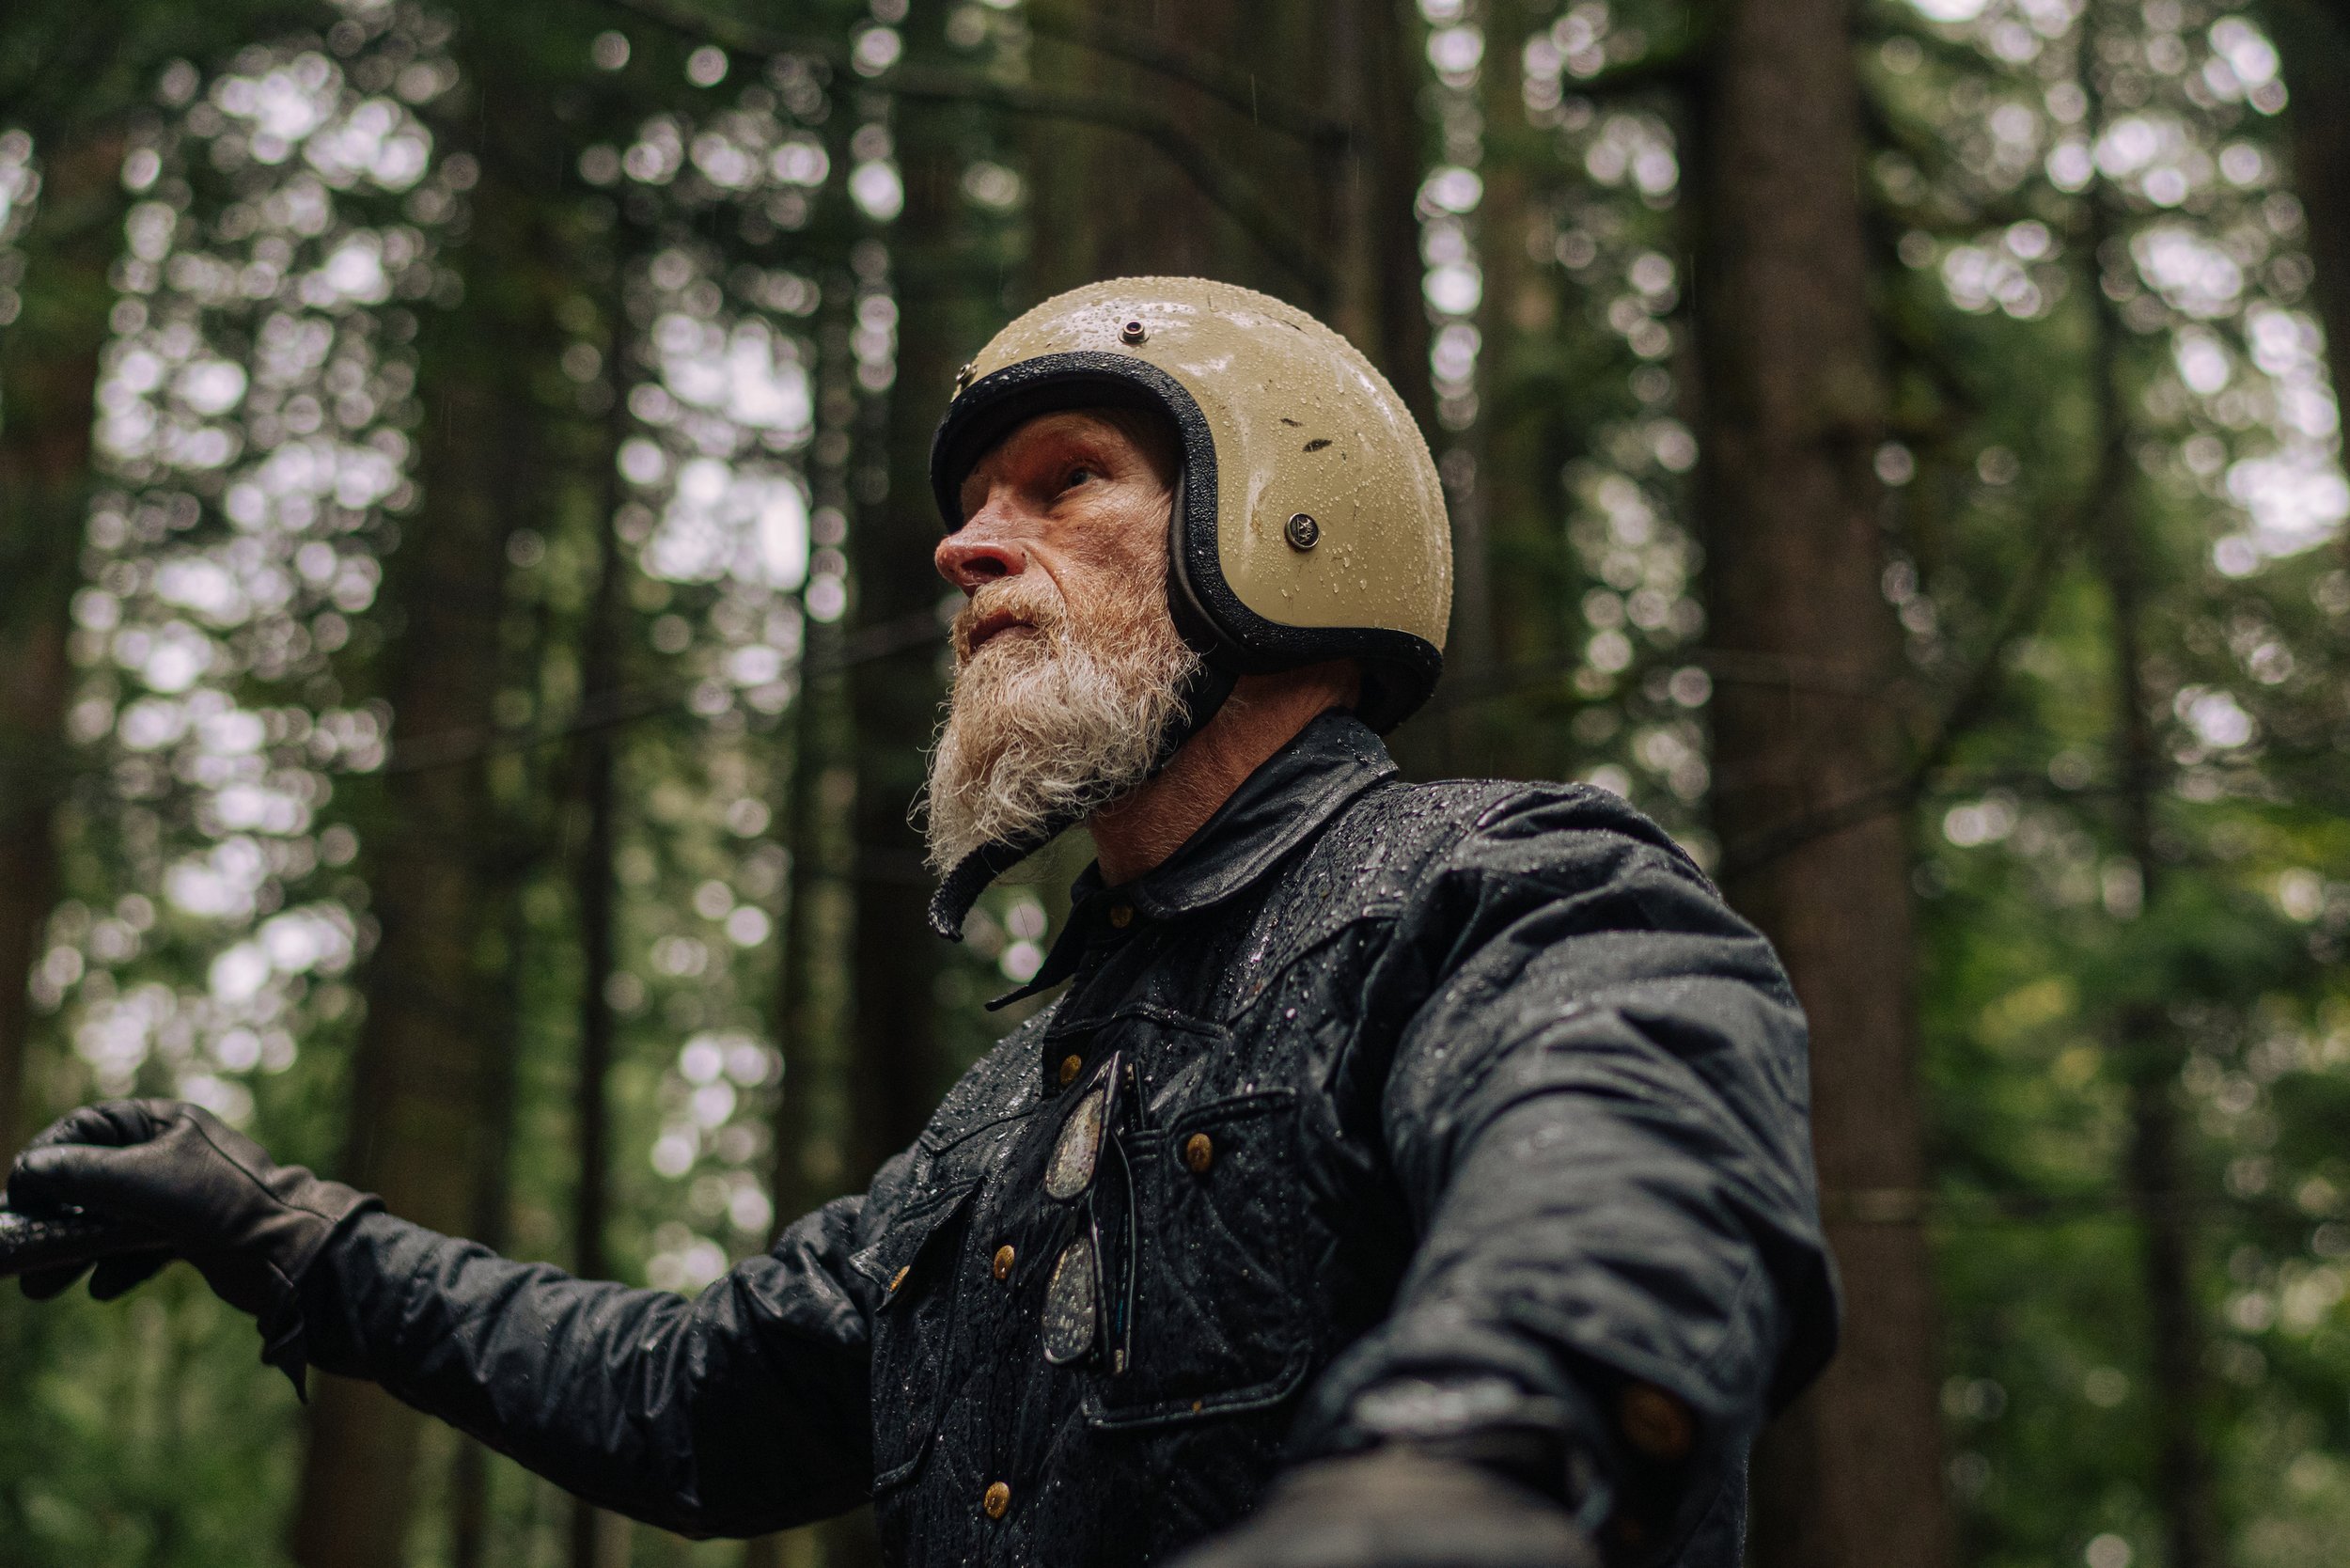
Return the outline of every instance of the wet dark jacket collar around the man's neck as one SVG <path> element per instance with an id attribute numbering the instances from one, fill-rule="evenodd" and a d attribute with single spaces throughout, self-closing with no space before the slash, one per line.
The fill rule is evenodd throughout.
<path id="1" fill-rule="evenodd" d="M 1379 736 L 1351 712 L 1311 719 L 1154 870 L 1123 886 L 1104 886 L 1102 863 L 1088 865 L 1069 886 L 1069 924 L 1043 966 L 1027 985 L 987 1006 L 1010 1006 L 1060 985 L 1076 973 L 1088 945 L 1123 936 L 1135 917 L 1175 919 L 1248 891 L 1354 797 L 1394 773 Z"/>

